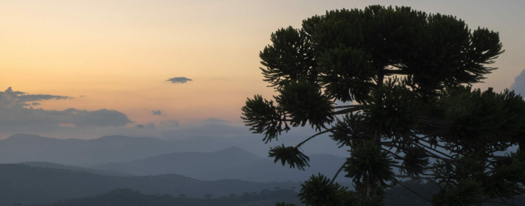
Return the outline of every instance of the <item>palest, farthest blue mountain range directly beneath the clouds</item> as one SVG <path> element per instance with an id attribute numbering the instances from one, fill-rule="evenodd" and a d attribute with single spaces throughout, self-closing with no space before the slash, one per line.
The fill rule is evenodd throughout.
<path id="1" fill-rule="evenodd" d="M 97 139 L 57 139 L 38 135 L 16 134 L 0 140 L 0 163 L 25 161 L 55 162 L 83 166 L 110 162 L 132 161 L 169 153 L 209 153 L 227 147 L 240 147 L 262 157 L 276 144 L 297 144 L 302 137 L 283 138 L 279 142 L 264 144 L 257 135 L 242 137 L 194 137 L 184 140 L 162 140 L 154 137 L 104 136 Z M 317 142 L 316 142 L 317 141 Z M 310 154 L 331 154 L 328 139 L 314 139 L 306 149 Z M 305 147 L 309 147 L 308 145 Z M 337 148 L 337 147 L 336 147 Z M 340 148 L 339 150 L 344 150 Z M 334 152 L 335 153 L 335 152 Z M 339 152 L 337 152 L 339 154 Z M 67 155 L 65 155 L 67 154 Z M 346 152 L 344 152 L 346 156 Z"/>

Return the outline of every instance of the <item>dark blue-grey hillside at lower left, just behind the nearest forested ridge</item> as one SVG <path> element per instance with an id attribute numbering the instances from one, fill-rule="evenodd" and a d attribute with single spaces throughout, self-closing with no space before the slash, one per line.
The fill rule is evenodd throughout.
<path id="1" fill-rule="evenodd" d="M 220 197 L 275 187 L 300 188 L 294 182 L 202 181 L 179 175 L 112 177 L 84 171 L 0 164 L 0 206 L 12 206 L 15 202 L 46 203 L 93 196 L 119 188 L 129 188 L 144 194 L 185 194 L 187 197 L 201 198 L 204 194 Z"/>

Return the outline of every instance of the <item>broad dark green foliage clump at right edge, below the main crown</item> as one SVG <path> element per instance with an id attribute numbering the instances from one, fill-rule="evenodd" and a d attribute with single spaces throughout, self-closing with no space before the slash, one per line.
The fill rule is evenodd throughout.
<path id="1" fill-rule="evenodd" d="M 481 92 L 460 86 L 446 90 L 437 104 L 442 118 L 453 125 L 444 137 L 454 147 L 501 150 L 523 139 L 525 102 L 513 91 Z"/>

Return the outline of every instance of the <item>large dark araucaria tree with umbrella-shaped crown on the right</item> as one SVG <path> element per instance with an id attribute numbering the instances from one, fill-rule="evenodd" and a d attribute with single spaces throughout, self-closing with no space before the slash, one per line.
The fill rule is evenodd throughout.
<path id="1" fill-rule="evenodd" d="M 313 16 L 302 28 L 278 29 L 271 42 L 259 56 L 277 95 L 248 99 L 246 125 L 266 143 L 292 127 L 314 128 L 295 146 L 270 149 L 290 167 L 309 166 L 299 147 L 312 138 L 329 135 L 349 149 L 331 180 L 304 182 L 304 203 L 382 205 L 385 190 L 406 178 L 434 182 L 434 205 L 505 203 L 525 192 L 525 102 L 470 86 L 496 69 L 497 32 L 410 7 L 369 6 Z M 333 182 L 340 172 L 355 191 Z"/>

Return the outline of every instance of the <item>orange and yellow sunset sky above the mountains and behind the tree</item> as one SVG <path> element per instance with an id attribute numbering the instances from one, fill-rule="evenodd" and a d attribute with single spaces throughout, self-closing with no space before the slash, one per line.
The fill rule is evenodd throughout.
<path id="1" fill-rule="evenodd" d="M 499 31 L 506 50 L 496 60 L 499 69 L 477 87 L 510 88 L 525 69 L 523 1 L 6 0 L 0 1 L 0 124 L 18 126 L 0 126 L 0 139 L 14 133 L 95 138 L 125 128 L 133 134 L 137 125 L 241 125 L 246 97 L 272 95 L 258 69 L 271 32 L 300 27 L 326 10 L 371 4 L 455 15 L 470 28 Z M 175 77 L 191 81 L 167 81 Z M 8 93 L 17 101 L 8 101 Z M 21 101 L 23 95 L 34 101 Z M 113 110 L 119 114 L 107 113 Z M 121 121 L 81 119 L 92 111 Z M 71 128 L 79 122 L 86 127 Z M 47 123 L 60 125 L 45 129 Z M 93 127 L 102 132 L 88 134 Z"/>

